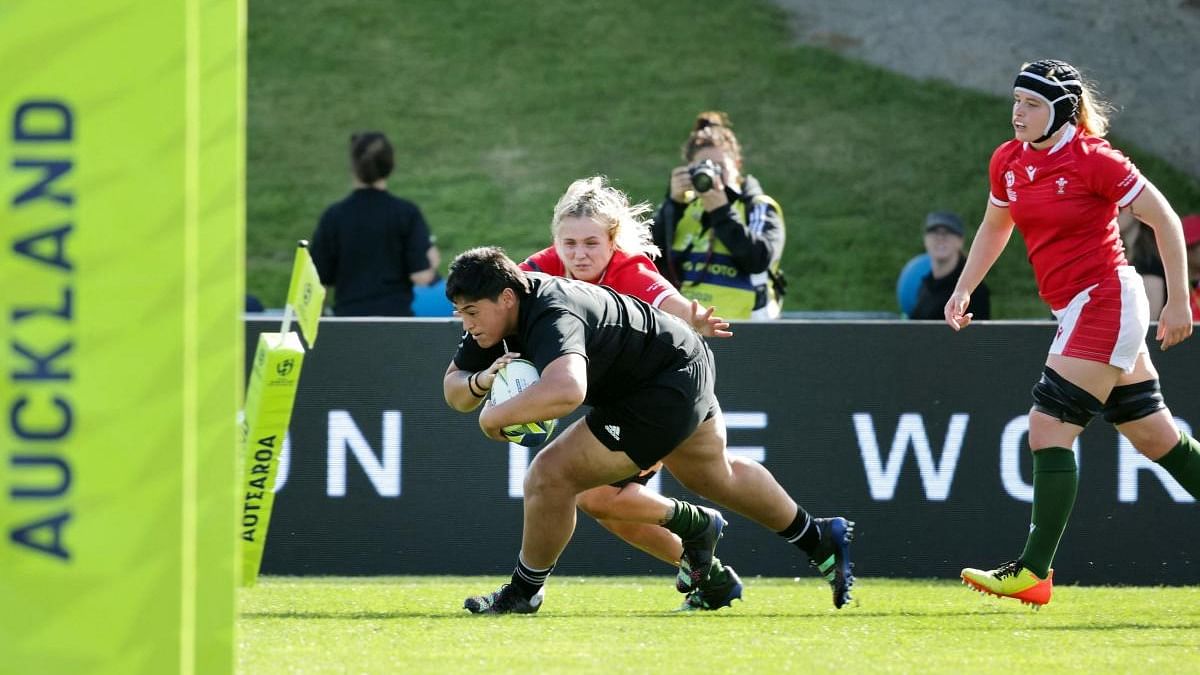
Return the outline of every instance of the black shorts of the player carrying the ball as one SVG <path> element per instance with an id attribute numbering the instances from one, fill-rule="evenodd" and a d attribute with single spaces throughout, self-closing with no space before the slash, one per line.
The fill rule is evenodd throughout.
<path id="1" fill-rule="evenodd" d="M 588 429 L 610 450 L 649 468 L 716 414 L 715 380 L 713 353 L 704 345 L 678 369 L 659 374 L 618 401 L 594 406 Z"/>

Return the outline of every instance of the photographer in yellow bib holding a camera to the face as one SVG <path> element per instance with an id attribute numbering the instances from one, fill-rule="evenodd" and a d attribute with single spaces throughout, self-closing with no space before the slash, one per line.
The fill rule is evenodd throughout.
<path id="1" fill-rule="evenodd" d="M 659 270 L 685 298 L 730 319 L 778 318 L 786 282 L 784 214 L 754 177 L 742 174 L 742 147 L 728 117 L 696 117 L 683 145 L 688 163 L 671 172 L 654 214 Z"/>

